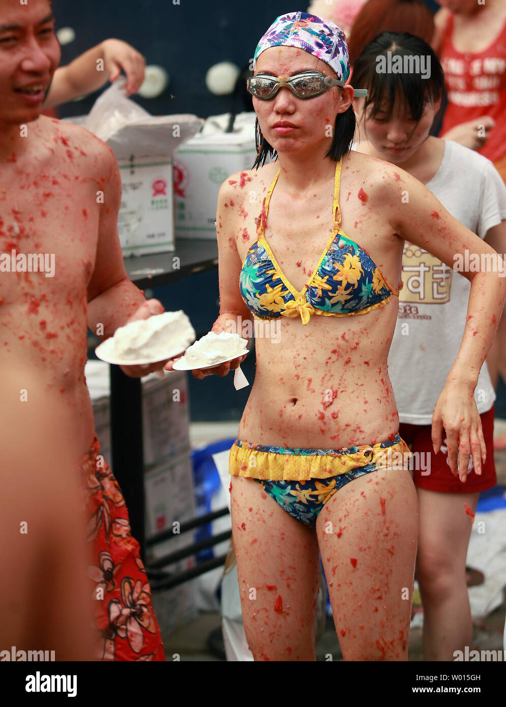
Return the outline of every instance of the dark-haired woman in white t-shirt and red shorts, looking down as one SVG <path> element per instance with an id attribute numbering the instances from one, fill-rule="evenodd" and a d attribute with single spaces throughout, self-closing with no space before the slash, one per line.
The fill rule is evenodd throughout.
<path id="1" fill-rule="evenodd" d="M 430 135 L 442 110 L 445 81 L 440 62 L 418 37 L 387 33 L 366 45 L 353 65 L 353 83 L 368 89 L 355 99 L 360 145 L 355 149 L 406 170 L 454 218 L 506 252 L 506 187 L 493 164 L 455 142 Z M 409 194 L 404 194 L 406 208 Z M 433 214 L 437 218 L 437 214 Z M 447 464 L 447 440 L 433 452 L 435 403 L 459 351 L 469 281 L 425 250 L 405 243 L 404 288 L 389 354 L 389 376 L 399 409 L 399 434 L 414 453 L 413 479 L 420 504 L 418 583 L 423 600 L 425 660 L 454 660 L 471 647 L 473 628 L 466 587 L 471 519 L 480 491 L 495 485 L 493 403 L 486 363 L 474 392 L 486 441 L 481 475 L 470 462 L 464 483 Z M 503 267 L 500 259 L 495 262 Z M 494 263 L 490 263 L 494 267 Z M 445 434 L 445 433 L 444 433 Z"/>

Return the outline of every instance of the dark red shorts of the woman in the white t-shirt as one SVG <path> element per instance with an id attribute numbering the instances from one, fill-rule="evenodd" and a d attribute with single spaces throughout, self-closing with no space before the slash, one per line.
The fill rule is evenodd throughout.
<path id="1" fill-rule="evenodd" d="M 483 428 L 483 438 L 487 449 L 487 460 L 482 464 L 481 476 L 474 472 L 474 468 L 467 472 L 466 482 L 463 484 L 459 477 L 454 477 L 447 464 L 447 440 L 443 437 L 442 447 L 437 454 L 433 450 L 432 425 L 411 425 L 401 422 L 399 435 L 406 442 L 411 451 L 417 455 L 413 460 L 413 481 L 418 489 L 440 491 L 441 493 L 478 493 L 492 489 L 497 483 L 494 464 L 494 409 L 480 415 Z M 443 431 L 444 433 L 444 431 Z M 430 465 L 425 463 L 430 461 Z M 472 462 L 471 462 L 472 463 Z M 425 468 L 423 468 L 425 467 Z"/>

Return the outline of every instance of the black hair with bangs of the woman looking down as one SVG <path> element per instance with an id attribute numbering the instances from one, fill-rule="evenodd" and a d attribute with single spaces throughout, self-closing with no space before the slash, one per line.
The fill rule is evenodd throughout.
<path id="1" fill-rule="evenodd" d="M 409 70 L 399 74 L 389 70 L 394 66 L 394 57 L 401 57 L 401 62 L 397 62 L 401 67 L 409 67 Z M 416 57 L 418 68 L 422 62 L 425 62 L 425 67 L 429 67 L 425 76 L 423 71 L 412 70 L 417 66 Z M 384 70 L 385 66 L 387 71 Z M 407 32 L 382 32 L 365 45 L 353 64 L 353 85 L 367 88 L 364 114 L 370 119 L 374 119 L 379 112 L 386 113 L 387 119 L 391 119 L 396 98 L 406 102 L 411 117 L 417 123 L 427 103 L 435 104 L 441 100 L 432 129 L 435 129 L 442 115 L 445 76 L 440 61 L 427 42 Z"/>

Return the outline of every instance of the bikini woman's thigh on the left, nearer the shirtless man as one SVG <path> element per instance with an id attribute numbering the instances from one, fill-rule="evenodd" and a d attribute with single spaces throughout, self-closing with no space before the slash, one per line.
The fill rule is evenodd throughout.
<path id="1" fill-rule="evenodd" d="M 254 479 L 232 478 L 230 506 L 245 633 L 255 660 L 315 660 L 319 551 L 314 528 Z"/>

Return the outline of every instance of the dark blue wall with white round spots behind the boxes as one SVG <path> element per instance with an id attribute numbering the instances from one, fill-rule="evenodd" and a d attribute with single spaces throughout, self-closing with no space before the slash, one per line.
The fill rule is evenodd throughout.
<path id="1" fill-rule="evenodd" d="M 435 8 L 435 2 L 426 2 Z M 136 97 L 146 110 L 152 115 L 208 117 L 230 110 L 230 98 L 207 90 L 208 68 L 224 61 L 240 68 L 248 64 L 274 18 L 307 8 L 309 0 L 180 0 L 180 5 L 172 0 L 53 0 L 52 4 L 57 28 L 76 30 L 76 40 L 61 47 L 61 64 L 107 37 L 117 37 L 136 47 L 148 64 L 159 64 L 170 74 L 170 86 L 163 96 L 153 100 Z M 62 106 L 59 115 L 89 112 L 97 95 Z"/>

